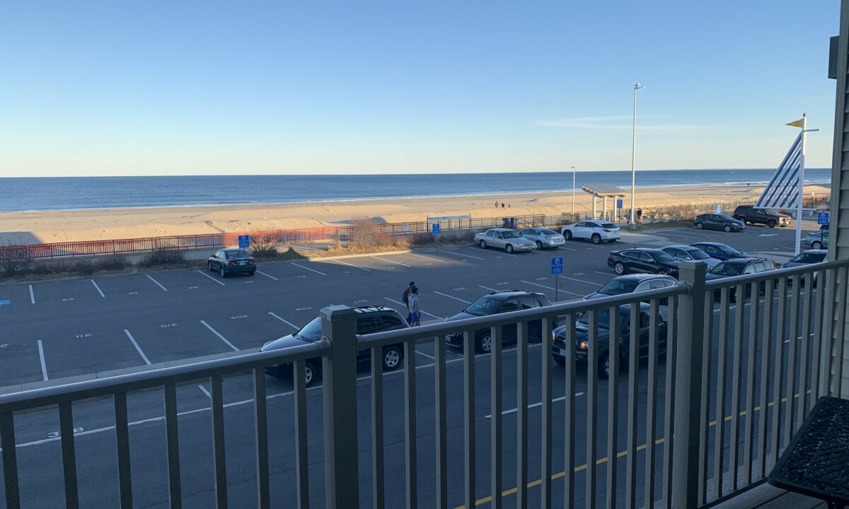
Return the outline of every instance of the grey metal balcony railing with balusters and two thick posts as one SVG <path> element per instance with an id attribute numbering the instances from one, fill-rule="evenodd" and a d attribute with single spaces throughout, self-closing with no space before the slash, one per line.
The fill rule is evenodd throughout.
<path id="1" fill-rule="evenodd" d="M 22 496 L 22 482 L 53 483 L 64 485 L 64 500 L 41 505 L 90 506 L 76 470 L 75 412 L 106 400 L 117 484 L 95 491 L 98 501 L 114 496 L 113 505 L 132 507 L 134 493 L 150 487 L 133 474 L 128 400 L 161 394 L 166 454 L 141 465 L 166 471 L 160 503 L 180 507 L 187 492 L 207 491 L 228 506 L 227 451 L 238 445 L 225 439 L 224 389 L 247 381 L 256 498 L 240 489 L 231 506 L 705 506 L 762 481 L 814 401 L 835 392 L 832 373 L 843 366 L 832 366 L 839 345 L 831 338 L 845 331 L 831 324 L 846 323 L 846 294 L 837 292 L 846 292 L 847 267 L 829 262 L 705 282 L 703 264 L 682 262 L 681 284 L 672 288 L 366 336 L 355 333 L 354 310 L 330 306 L 314 344 L 2 395 L 3 498 L 10 509 L 28 506 L 26 496 L 44 495 Z M 563 327 L 556 336 L 555 326 Z M 462 346 L 451 361 L 448 336 Z M 491 350 L 481 354 L 485 336 Z M 402 383 L 382 372 L 387 345 L 402 345 Z M 419 364 L 417 349 L 432 362 Z M 361 350 L 372 354 L 359 378 L 368 384 L 363 392 Z M 322 405 L 307 419 L 305 362 L 318 358 Z M 288 363 L 292 411 L 272 429 L 292 429 L 291 457 L 270 445 L 265 378 L 266 366 Z M 199 380 L 211 387 L 209 485 L 181 476 L 187 438 L 177 389 Z M 60 478 L 32 481 L 44 474 L 20 464 L 16 423 L 57 408 Z M 295 477 L 282 491 L 270 481 L 269 459 L 278 456 Z"/>

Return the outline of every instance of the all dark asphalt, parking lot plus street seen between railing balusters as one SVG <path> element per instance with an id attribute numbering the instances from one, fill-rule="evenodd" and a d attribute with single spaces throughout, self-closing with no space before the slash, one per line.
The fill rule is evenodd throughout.
<path id="1" fill-rule="evenodd" d="M 815 226 L 810 226 L 814 229 Z M 646 233 L 623 234 L 614 245 L 571 242 L 563 249 L 508 255 L 475 246 L 435 247 L 403 255 L 373 255 L 344 260 L 267 263 L 253 277 L 221 279 L 206 271 L 160 271 L 118 276 L 65 279 L 50 282 L 0 285 L 0 385 L 3 391 L 31 387 L 31 383 L 65 383 L 93 373 L 137 368 L 213 354 L 254 350 L 261 344 L 292 333 L 311 320 L 324 305 L 387 305 L 402 310 L 401 294 L 414 280 L 421 292 L 421 309 L 428 320 L 441 320 L 490 291 L 520 289 L 546 294 L 555 300 L 554 278 L 549 273 L 553 255 L 565 257 L 566 270 L 559 279 L 559 301 L 579 299 L 615 275 L 606 266 L 606 253 L 632 245 L 659 247 L 670 243 L 713 241 L 786 260 L 792 255 L 790 229 L 749 227 L 746 232 L 696 231 L 678 227 Z M 531 346 L 531 366 L 540 366 L 538 345 Z M 419 495 L 422 506 L 432 506 L 433 492 L 433 370 L 432 345 L 420 344 L 414 359 L 418 375 Z M 462 373 L 460 352 L 448 349 L 449 451 L 461 451 Z M 548 359 L 548 355 L 546 355 Z M 515 352 L 504 357 L 504 487 L 514 482 Z M 488 356 L 476 359 L 478 386 L 476 423 L 478 487 L 486 497 L 489 465 Z M 661 362 L 658 433 L 662 435 L 665 363 Z M 401 372 L 386 375 L 402 379 Z M 554 369 L 555 429 L 562 428 L 564 370 Z M 638 377 L 639 394 L 646 398 L 644 366 Z M 531 370 L 532 402 L 539 400 L 538 370 Z M 624 415 L 627 378 L 620 383 L 620 415 Z M 585 377 L 578 377 L 576 422 L 586 422 Z M 268 379 L 269 422 L 272 433 L 273 501 L 289 506 L 295 493 L 294 432 L 291 383 Z M 599 423 L 606 415 L 606 383 L 599 384 Z M 728 389 L 727 389 L 728 390 Z M 363 504 L 371 500 L 369 439 L 369 381 L 359 380 L 361 435 L 360 473 Z M 232 506 L 254 503 L 256 497 L 250 379 L 228 378 L 225 411 L 228 447 L 228 484 Z M 322 389 L 308 391 L 310 415 L 311 497 L 323 505 Z M 536 396 L 534 396 L 536 394 Z M 536 399 L 534 399 L 536 397 Z M 403 501 L 402 384 L 385 384 L 385 455 L 387 506 Z M 185 506 L 213 503 L 209 391 L 204 383 L 178 389 L 180 411 L 183 499 Z M 75 411 L 77 467 L 82 506 L 116 506 L 114 424 L 110 401 L 78 404 Z M 538 455 L 538 406 L 529 411 L 531 454 Z M 535 413 L 536 412 L 536 413 Z M 158 391 L 132 394 L 130 399 L 132 467 L 136 505 L 160 507 L 167 503 L 167 480 L 162 426 L 162 395 Z M 639 422 L 644 425 L 644 417 Z M 620 433 L 624 436 L 624 421 Z M 63 500 L 57 411 L 37 411 L 16 418 L 22 500 L 26 507 L 53 507 Z M 576 461 L 583 463 L 586 433 L 577 433 Z M 563 450 L 562 433 L 555 433 L 554 450 Z M 644 437 L 644 431 L 640 431 Z M 644 443 L 641 439 L 639 443 Z M 620 439 L 619 450 L 624 450 Z M 606 455 L 599 439 L 599 456 Z M 641 453 L 642 454 L 642 453 Z M 658 458 L 662 457 L 662 445 Z M 560 455 L 562 456 L 562 455 Z M 641 460 L 642 461 L 642 460 Z M 529 461 L 531 480 L 539 478 L 538 461 Z M 554 455 L 554 472 L 563 469 L 563 458 Z M 624 467 L 621 466 L 621 479 Z M 579 474 L 581 475 L 581 474 Z M 449 465 L 449 501 L 462 503 L 462 456 Z M 559 485 L 557 484 L 559 483 Z M 601 490 L 604 475 L 599 478 Z M 562 490 L 562 477 L 555 481 Z M 581 484 L 582 486 L 582 484 Z M 658 485 L 660 489 L 660 485 Z M 538 496 L 531 489 L 531 497 Z M 582 491 L 579 490 L 579 491 Z M 536 499 L 533 499 L 536 500 Z M 233 503 L 239 501 L 239 504 Z M 581 501 L 579 496 L 578 502 Z M 456 503 L 455 503 L 456 502 Z"/>

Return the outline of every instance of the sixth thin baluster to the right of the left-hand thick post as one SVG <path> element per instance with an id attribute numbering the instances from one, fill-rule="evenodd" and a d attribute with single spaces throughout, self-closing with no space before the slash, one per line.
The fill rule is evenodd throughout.
<path id="1" fill-rule="evenodd" d="M 543 352 L 543 357 L 545 352 Z M 528 505 L 528 322 L 516 324 L 516 507 Z"/>

